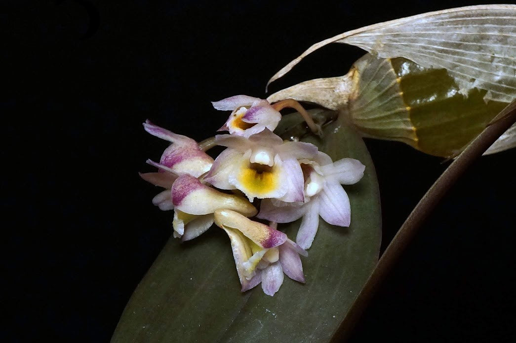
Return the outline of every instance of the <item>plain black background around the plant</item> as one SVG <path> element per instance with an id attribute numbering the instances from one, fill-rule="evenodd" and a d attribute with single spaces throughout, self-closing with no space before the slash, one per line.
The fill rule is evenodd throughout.
<path id="1" fill-rule="evenodd" d="M 265 97 L 312 43 L 349 29 L 475 2 L 3 1 L 1 95 L 5 340 L 108 341 L 171 234 L 151 203 L 156 124 L 196 140 Z M 334 44 L 271 86 L 343 75 L 363 54 Z M 5 134 L 7 133 L 7 134 Z M 382 251 L 448 163 L 367 140 L 383 207 Z M 379 288 L 352 341 L 516 338 L 514 151 L 476 162 Z"/>

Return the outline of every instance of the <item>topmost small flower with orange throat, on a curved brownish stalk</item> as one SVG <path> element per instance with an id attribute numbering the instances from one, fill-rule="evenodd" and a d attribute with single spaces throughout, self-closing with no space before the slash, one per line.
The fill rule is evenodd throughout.
<path id="1" fill-rule="evenodd" d="M 229 131 L 239 136 L 249 137 L 265 128 L 273 131 L 281 119 L 281 113 L 267 100 L 247 95 L 235 95 L 212 104 L 217 110 L 232 111 L 219 131 Z"/>

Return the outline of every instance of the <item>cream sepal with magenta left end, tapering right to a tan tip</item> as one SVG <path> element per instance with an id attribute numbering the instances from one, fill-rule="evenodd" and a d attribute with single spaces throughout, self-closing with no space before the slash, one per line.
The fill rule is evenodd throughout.
<path id="1" fill-rule="evenodd" d="M 245 198 L 214 190 L 187 174 L 180 176 L 172 185 L 172 202 L 176 209 L 196 215 L 213 213 L 218 209 L 234 210 L 249 217 L 257 213 Z"/>

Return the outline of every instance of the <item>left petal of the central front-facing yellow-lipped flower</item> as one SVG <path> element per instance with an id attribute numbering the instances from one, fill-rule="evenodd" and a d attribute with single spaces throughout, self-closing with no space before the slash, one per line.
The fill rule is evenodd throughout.
<path id="1" fill-rule="evenodd" d="M 220 153 L 213 162 L 212 168 L 204 177 L 204 181 L 211 183 L 221 190 L 234 190 L 236 187 L 229 183 L 229 176 L 236 166 L 242 163 L 242 154 L 235 149 L 228 148 Z"/>

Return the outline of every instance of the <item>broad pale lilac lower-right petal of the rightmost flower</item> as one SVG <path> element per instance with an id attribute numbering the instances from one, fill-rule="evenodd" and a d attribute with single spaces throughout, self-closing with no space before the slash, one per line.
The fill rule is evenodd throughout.
<path id="1" fill-rule="evenodd" d="M 327 182 L 319 193 L 319 199 L 319 213 L 322 219 L 331 225 L 349 226 L 351 221 L 349 198 L 338 182 Z"/>

